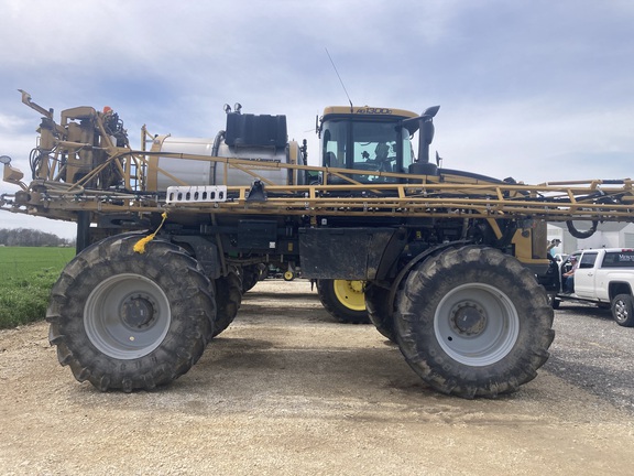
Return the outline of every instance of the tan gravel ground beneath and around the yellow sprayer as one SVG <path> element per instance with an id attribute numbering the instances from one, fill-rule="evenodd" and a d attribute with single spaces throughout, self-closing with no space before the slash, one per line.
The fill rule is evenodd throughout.
<path id="1" fill-rule="evenodd" d="M 428 389 L 306 281 L 264 281 L 166 389 L 101 393 L 57 364 L 44 323 L 0 332 L 3 475 L 631 475 L 634 329 L 557 311 L 539 376 L 512 396 Z"/>

